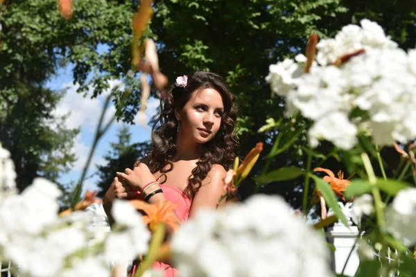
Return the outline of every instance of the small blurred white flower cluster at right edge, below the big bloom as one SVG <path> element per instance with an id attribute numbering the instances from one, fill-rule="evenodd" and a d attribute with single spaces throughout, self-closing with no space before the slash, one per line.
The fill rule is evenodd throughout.
<path id="1" fill-rule="evenodd" d="M 416 244 L 416 188 L 397 193 L 385 213 L 387 230 L 407 246 Z"/>

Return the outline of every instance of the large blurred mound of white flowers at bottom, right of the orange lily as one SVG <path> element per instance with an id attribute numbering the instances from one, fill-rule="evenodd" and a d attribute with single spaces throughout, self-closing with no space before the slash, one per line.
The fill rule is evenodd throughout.
<path id="1" fill-rule="evenodd" d="M 284 199 L 255 195 L 200 211 L 173 236 L 181 276 L 331 276 L 326 242 Z"/>

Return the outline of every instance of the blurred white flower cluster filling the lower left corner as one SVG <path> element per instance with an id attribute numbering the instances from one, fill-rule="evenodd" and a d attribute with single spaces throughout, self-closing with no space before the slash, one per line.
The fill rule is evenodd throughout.
<path id="1" fill-rule="evenodd" d="M 0 155 L 4 165 L 10 155 L 3 148 Z M 12 166 L 0 171 L 3 188 L 14 184 L 15 176 Z M 99 212 L 78 211 L 59 217 L 60 195 L 56 184 L 42 178 L 35 179 L 21 194 L 3 195 L 0 258 L 12 260 L 19 274 L 110 276 L 111 262 L 127 262 L 148 250 L 150 232 L 128 202 L 114 203 L 112 213 L 120 231 L 108 234 Z"/>

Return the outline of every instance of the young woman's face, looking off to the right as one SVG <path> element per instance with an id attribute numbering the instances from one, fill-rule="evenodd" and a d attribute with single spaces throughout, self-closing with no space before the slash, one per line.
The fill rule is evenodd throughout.
<path id="1" fill-rule="evenodd" d="M 180 111 L 180 132 L 196 143 L 207 143 L 218 133 L 223 113 L 223 98 L 218 91 L 194 91 Z"/>

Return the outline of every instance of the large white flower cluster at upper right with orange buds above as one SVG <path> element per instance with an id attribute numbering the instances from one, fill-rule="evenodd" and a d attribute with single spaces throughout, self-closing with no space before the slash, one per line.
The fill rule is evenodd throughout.
<path id="1" fill-rule="evenodd" d="M 334 39 L 322 39 L 317 48 L 318 63 L 310 73 L 303 73 L 298 57 L 270 65 L 266 78 L 273 93 L 286 97 L 288 116 L 300 111 L 313 120 L 312 147 L 325 139 L 349 150 L 361 131 L 371 132 L 379 145 L 416 138 L 416 50 L 401 50 L 367 19 L 361 27 L 348 25 Z"/>

